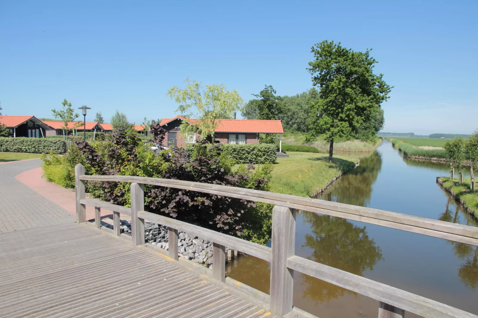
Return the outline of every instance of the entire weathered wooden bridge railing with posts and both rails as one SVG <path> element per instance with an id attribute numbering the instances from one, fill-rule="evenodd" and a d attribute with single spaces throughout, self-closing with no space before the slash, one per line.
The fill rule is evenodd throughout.
<path id="1" fill-rule="evenodd" d="M 213 242 L 213 277 L 223 282 L 225 281 L 225 246 L 270 262 L 270 310 L 279 317 L 293 309 L 293 271 L 298 271 L 379 300 L 379 318 L 404 317 L 405 311 L 426 318 L 478 318 L 476 315 L 437 301 L 294 255 L 297 210 L 337 216 L 478 246 L 478 228 L 476 227 L 337 202 L 216 184 L 134 176 L 89 176 L 85 175 L 82 165 L 76 166 L 75 174 L 76 218 L 78 223 L 86 222 L 86 205 L 93 205 L 96 212 L 95 223 L 100 227 L 100 208 L 106 208 L 114 211 L 113 229 L 117 235 L 120 235 L 120 213 L 131 215 L 133 245 L 144 244 L 144 220 L 168 226 L 170 240 L 168 254 L 175 260 L 178 260 L 178 231 L 191 233 L 211 241 Z M 130 182 L 131 208 L 101 201 L 86 200 L 86 180 Z M 272 248 L 162 215 L 145 212 L 144 184 L 274 204 L 272 210 Z"/>

